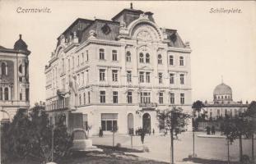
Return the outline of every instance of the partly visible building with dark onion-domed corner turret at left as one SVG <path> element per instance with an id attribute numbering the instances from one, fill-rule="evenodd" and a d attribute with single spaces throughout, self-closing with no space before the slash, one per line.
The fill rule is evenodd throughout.
<path id="1" fill-rule="evenodd" d="M 0 46 L 1 121 L 12 121 L 17 110 L 30 107 L 29 55 L 21 34 L 13 49 Z"/>

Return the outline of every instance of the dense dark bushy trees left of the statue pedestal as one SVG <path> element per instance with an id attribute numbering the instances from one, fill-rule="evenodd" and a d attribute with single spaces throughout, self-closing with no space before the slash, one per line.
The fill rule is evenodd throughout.
<path id="1" fill-rule="evenodd" d="M 2 147 L 8 159 L 37 158 L 41 162 L 51 160 L 52 130 L 44 106 L 35 105 L 29 114 L 18 111 L 10 125 L 3 128 Z M 64 117 L 54 126 L 54 157 L 67 156 L 72 146 L 72 136 L 67 134 Z"/>

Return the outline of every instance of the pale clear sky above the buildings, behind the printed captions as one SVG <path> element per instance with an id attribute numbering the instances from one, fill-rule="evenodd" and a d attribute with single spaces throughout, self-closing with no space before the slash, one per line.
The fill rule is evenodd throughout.
<path id="1" fill-rule="evenodd" d="M 31 51 L 30 105 L 45 101 L 44 66 L 57 38 L 78 17 L 110 20 L 131 1 L 0 1 L 0 45 L 13 48 L 22 39 Z M 17 13 L 17 8 L 49 8 L 50 13 Z M 235 101 L 256 100 L 255 1 L 134 1 L 133 8 L 154 13 L 160 27 L 178 30 L 189 41 L 192 100 L 212 101 L 221 84 L 230 85 Z M 241 13 L 211 13 L 212 9 Z"/>

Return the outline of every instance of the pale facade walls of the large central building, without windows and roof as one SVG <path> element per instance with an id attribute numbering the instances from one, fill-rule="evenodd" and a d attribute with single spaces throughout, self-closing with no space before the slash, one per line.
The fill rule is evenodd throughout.
<path id="1" fill-rule="evenodd" d="M 141 22 L 141 20 L 138 20 Z M 136 24 L 134 21 L 132 24 Z M 135 30 L 152 28 L 154 25 L 142 25 Z M 156 26 L 154 28 L 157 28 Z M 132 29 L 131 29 L 132 30 Z M 160 29 L 158 29 L 160 30 Z M 160 30 L 161 31 L 161 30 Z M 150 30 L 154 35 L 153 40 L 138 41 L 136 39 L 119 39 L 118 41 L 101 40 L 89 37 L 85 43 L 62 43 L 58 46 L 54 57 L 45 69 L 46 83 L 46 106 L 51 115 L 58 100 L 57 89 L 65 93 L 65 98 L 71 97 L 69 79 L 77 77 L 77 107 L 74 112 L 87 115 L 88 125 L 92 126 L 91 134 L 98 134 L 101 127 L 102 113 L 117 113 L 120 134 L 128 134 L 128 114 L 133 113 L 134 129 L 142 127 L 142 116 L 148 113 L 151 116 L 151 131 L 158 130 L 156 119 L 157 109 L 166 109 L 172 106 L 183 107 L 184 112 L 191 113 L 191 69 L 190 48 L 172 48 L 157 36 L 156 30 Z M 163 35 L 163 34 L 161 34 Z M 132 38 L 136 36 L 132 36 Z M 104 49 L 105 59 L 100 60 L 100 49 Z M 112 51 L 116 50 L 117 61 L 112 60 Z M 126 53 L 131 52 L 131 62 L 126 61 Z M 150 54 L 149 63 L 139 62 L 139 53 Z M 87 59 L 88 53 L 88 61 Z M 162 56 L 162 64 L 158 64 L 158 54 Z M 84 57 L 82 57 L 82 55 Z M 174 57 L 174 65 L 170 66 L 170 55 Z M 79 63 L 78 63 L 79 56 Z M 179 65 L 179 57 L 184 57 L 184 66 Z M 72 67 L 74 59 L 74 67 Z M 63 64 L 64 61 L 64 64 Z M 68 62 L 69 61 L 69 62 Z M 145 58 L 144 58 L 145 62 Z M 69 69 L 70 67 L 70 69 Z M 105 81 L 100 81 L 100 69 L 105 69 Z M 118 71 L 118 81 L 112 80 L 112 71 Z M 132 71 L 132 82 L 127 82 L 127 71 Z M 150 72 L 151 82 L 140 83 L 139 72 Z M 159 84 L 158 73 L 163 74 L 163 83 Z M 175 74 L 174 84 L 170 84 L 170 73 Z M 180 84 L 179 75 L 184 75 L 184 84 Z M 63 80 L 65 88 L 63 88 Z M 146 78 L 145 78 L 146 80 Z M 127 92 L 133 92 L 133 103 L 127 102 Z M 105 91 L 105 103 L 100 103 L 100 91 Z M 118 92 L 118 103 L 113 103 L 113 91 Z M 140 93 L 150 92 L 151 103 L 156 103 L 151 109 L 142 107 Z M 159 104 L 159 92 L 163 92 L 164 101 Z M 84 98 L 84 93 L 86 98 Z M 89 95 L 90 93 L 90 103 Z M 175 104 L 170 104 L 170 93 L 175 93 Z M 180 103 L 180 93 L 184 93 L 184 104 Z M 81 101 L 80 101 L 81 95 Z M 73 103 L 73 102 L 72 102 Z M 70 107 L 65 109 L 70 110 Z M 65 111 L 64 110 L 64 111 Z M 189 130 L 191 127 L 189 126 Z M 108 132 L 105 132 L 108 133 Z"/>

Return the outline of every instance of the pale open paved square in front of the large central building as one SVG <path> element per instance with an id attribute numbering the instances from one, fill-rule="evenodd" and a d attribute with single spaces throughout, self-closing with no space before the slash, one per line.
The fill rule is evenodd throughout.
<path id="1" fill-rule="evenodd" d="M 223 138 L 195 138 L 195 153 L 198 157 L 205 159 L 216 159 L 226 161 L 227 147 L 226 139 Z M 104 138 L 92 137 L 93 144 L 112 145 L 112 136 Z M 129 136 L 116 136 L 115 144 L 121 144 L 122 147 L 131 148 L 131 139 Z M 136 148 L 142 148 L 139 136 L 133 137 L 133 145 Z M 151 158 L 158 161 L 170 162 L 170 136 L 150 135 L 145 137 L 145 146 L 150 150 L 149 153 L 133 153 L 139 157 Z M 175 162 L 182 162 L 184 158 L 193 153 L 192 133 L 186 132 L 179 134 L 179 139 L 175 139 Z M 243 153 L 251 155 L 251 139 L 243 139 Z M 255 151 L 256 156 L 256 151 Z M 230 145 L 230 159 L 239 160 L 239 142 Z"/>

